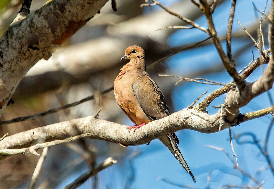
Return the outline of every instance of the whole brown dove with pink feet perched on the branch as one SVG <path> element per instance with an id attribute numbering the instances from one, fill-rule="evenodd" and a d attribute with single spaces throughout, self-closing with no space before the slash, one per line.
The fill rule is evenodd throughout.
<path id="1" fill-rule="evenodd" d="M 144 49 L 136 45 L 129 46 L 121 61 L 123 59 L 130 61 L 120 69 L 121 71 L 114 81 L 114 95 L 123 112 L 135 123 L 134 126 L 127 127 L 129 131 L 133 129 L 134 132 L 151 121 L 170 115 L 170 110 L 162 91 L 147 73 Z M 176 134 L 168 134 L 159 140 L 169 148 L 196 183 L 178 148 L 179 140 Z"/>

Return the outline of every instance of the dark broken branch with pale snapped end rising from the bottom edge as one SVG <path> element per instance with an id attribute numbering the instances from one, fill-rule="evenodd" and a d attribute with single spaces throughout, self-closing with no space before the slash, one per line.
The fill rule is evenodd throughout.
<path id="1" fill-rule="evenodd" d="M 91 169 L 87 172 L 85 172 L 84 174 L 82 174 L 81 176 L 79 176 L 75 181 L 73 181 L 72 183 L 70 183 L 69 185 L 65 186 L 62 189 L 74 189 L 79 187 L 80 185 L 82 185 L 85 181 L 87 181 L 87 179 L 89 179 L 90 177 L 96 175 L 98 172 L 100 172 L 101 170 L 113 165 L 117 163 L 117 160 L 113 160 L 112 157 L 107 158 L 105 161 L 103 161 L 101 164 L 99 164 L 98 166 L 96 166 L 94 169 Z"/>

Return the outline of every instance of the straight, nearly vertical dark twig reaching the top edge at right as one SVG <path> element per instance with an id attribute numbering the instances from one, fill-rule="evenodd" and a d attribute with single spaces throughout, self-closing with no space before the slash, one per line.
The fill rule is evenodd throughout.
<path id="1" fill-rule="evenodd" d="M 232 23 L 233 23 L 234 13 L 235 13 L 235 6 L 236 6 L 236 0 L 232 0 L 230 13 L 229 13 L 229 19 L 228 19 L 228 23 L 227 23 L 227 30 L 226 30 L 226 55 L 229 59 L 232 59 L 231 31 L 232 31 Z"/>

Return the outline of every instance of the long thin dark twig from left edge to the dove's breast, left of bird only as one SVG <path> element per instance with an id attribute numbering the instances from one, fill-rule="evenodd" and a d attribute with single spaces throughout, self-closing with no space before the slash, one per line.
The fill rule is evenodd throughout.
<path id="1" fill-rule="evenodd" d="M 36 119 L 36 118 L 40 118 L 40 117 L 46 116 L 48 114 L 52 114 L 52 113 L 58 112 L 60 110 L 64 110 L 66 108 L 77 106 L 78 104 L 84 103 L 86 101 L 93 100 L 98 95 L 102 95 L 102 94 L 108 93 L 108 92 L 110 92 L 112 90 L 113 90 L 113 86 L 110 87 L 110 88 L 105 89 L 104 91 L 99 92 L 98 94 L 95 94 L 95 95 L 92 95 L 92 96 L 88 96 L 86 98 L 83 98 L 82 100 L 76 101 L 76 102 L 71 103 L 71 104 L 66 104 L 65 106 L 60 106 L 58 108 L 53 108 L 53 109 L 47 110 L 45 112 L 36 113 L 36 114 L 33 114 L 33 115 L 28 115 L 28 116 L 22 116 L 22 117 L 18 117 L 18 118 L 13 118 L 13 119 L 10 119 L 10 120 L 7 120 L 7 121 L 0 121 L 0 125 L 7 125 L 7 124 L 11 124 L 11 123 L 20 122 L 20 121 L 33 120 L 33 119 Z"/>

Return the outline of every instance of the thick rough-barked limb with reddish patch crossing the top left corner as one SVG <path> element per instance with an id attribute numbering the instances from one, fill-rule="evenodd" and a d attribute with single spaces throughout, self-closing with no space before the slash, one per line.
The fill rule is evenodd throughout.
<path id="1" fill-rule="evenodd" d="M 40 59 L 89 21 L 107 0 L 53 0 L 13 22 L 0 39 L 0 115 L 16 86 Z M 81 6 L 79 6 L 81 5 Z"/>

